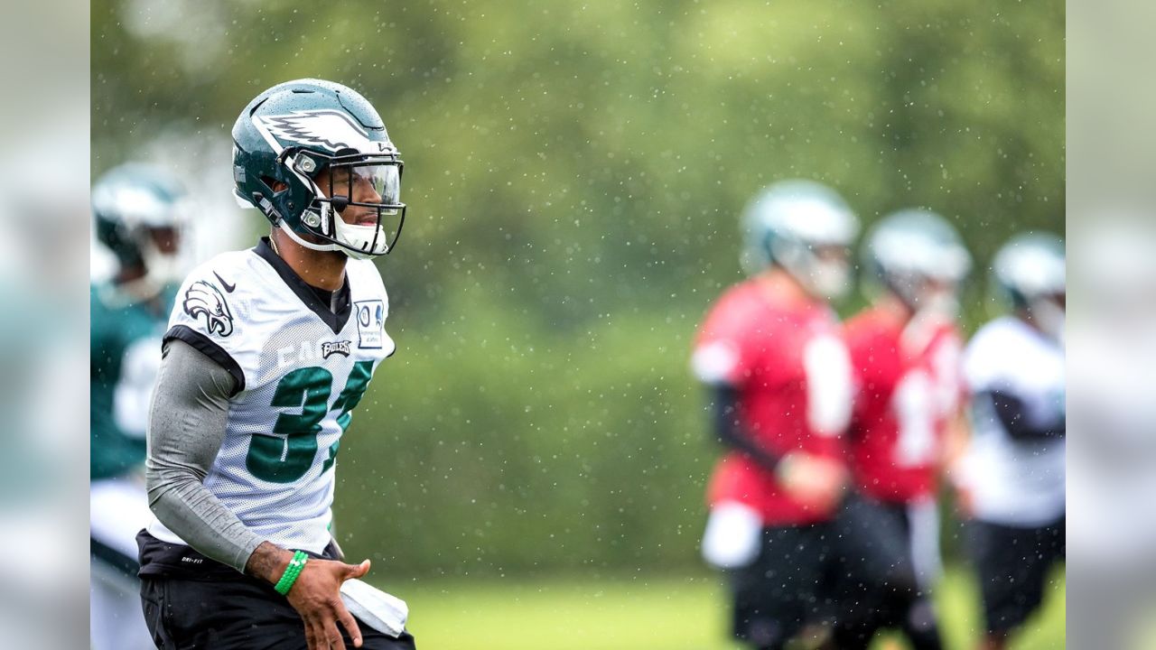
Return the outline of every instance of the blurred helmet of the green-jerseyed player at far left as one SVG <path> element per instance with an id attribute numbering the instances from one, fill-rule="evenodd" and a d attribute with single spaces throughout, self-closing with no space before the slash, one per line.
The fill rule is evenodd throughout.
<path id="1" fill-rule="evenodd" d="M 92 185 L 92 215 L 98 242 L 116 256 L 119 271 L 143 268 L 124 285 L 138 293 L 160 290 L 180 280 L 180 236 L 188 221 L 187 192 L 172 175 L 141 163 L 105 172 Z"/>

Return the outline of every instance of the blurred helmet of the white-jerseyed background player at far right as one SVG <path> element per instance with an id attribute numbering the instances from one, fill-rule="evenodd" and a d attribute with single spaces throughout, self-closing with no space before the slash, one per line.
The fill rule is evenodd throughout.
<path id="1" fill-rule="evenodd" d="M 1067 294 L 1064 239 L 1048 232 L 1017 235 L 995 253 L 995 286 L 1045 334 L 1062 341 Z"/>

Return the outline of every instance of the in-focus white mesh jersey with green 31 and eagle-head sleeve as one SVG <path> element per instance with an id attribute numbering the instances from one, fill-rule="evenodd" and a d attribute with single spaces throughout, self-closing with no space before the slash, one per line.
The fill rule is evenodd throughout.
<path id="1" fill-rule="evenodd" d="M 388 298 L 371 261 L 349 260 L 334 304 L 336 312 L 262 239 L 193 271 L 165 334 L 238 383 L 205 487 L 257 534 L 313 553 L 329 542 L 341 435 L 394 350 Z M 148 532 L 185 544 L 156 519 Z"/>

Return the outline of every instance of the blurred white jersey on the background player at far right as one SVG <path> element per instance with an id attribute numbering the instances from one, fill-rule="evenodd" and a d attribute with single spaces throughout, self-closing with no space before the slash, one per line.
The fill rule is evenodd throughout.
<path id="1" fill-rule="evenodd" d="M 1000 391 L 1023 402 L 1029 422 L 1065 414 L 1064 349 L 1015 317 L 988 323 L 964 354 L 972 396 Z M 976 516 L 1010 526 L 1051 524 L 1065 512 L 1065 440 L 1011 438 L 988 399 L 975 399 L 963 480 Z"/>

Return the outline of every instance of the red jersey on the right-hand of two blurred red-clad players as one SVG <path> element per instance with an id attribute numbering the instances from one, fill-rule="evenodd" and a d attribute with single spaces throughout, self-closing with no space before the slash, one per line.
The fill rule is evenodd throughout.
<path id="1" fill-rule="evenodd" d="M 961 340 L 947 320 L 867 309 L 844 328 L 858 393 L 847 430 L 857 487 L 907 503 L 935 493 L 943 434 L 963 398 Z"/>

